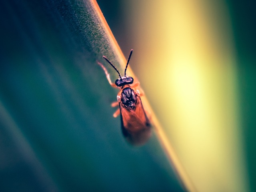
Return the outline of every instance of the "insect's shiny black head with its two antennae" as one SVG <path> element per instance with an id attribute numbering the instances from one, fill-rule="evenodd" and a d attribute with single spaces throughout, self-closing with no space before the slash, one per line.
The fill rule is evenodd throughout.
<path id="1" fill-rule="evenodd" d="M 119 75 L 119 79 L 116 80 L 115 84 L 116 86 L 118 87 L 122 87 L 124 85 L 127 85 L 127 84 L 132 84 L 133 83 L 133 78 L 132 77 L 129 77 L 129 76 L 126 76 L 126 69 L 128 67 L 128 64 L 129 64 L 129 61 L 130 61 L 130 58 L 132 56 L 132 52 L 133 50 L 131 50 L 130 52 L 130 55 L 128 57 L 128 60 L 127 60 L 127 64 L 126 64 L 126 67 L 125 67 L 125 70 L 124 70 L 124 77 L 121 76 L 121 74 L 119 73 L 119 71 L 117 70 L 117 68 L 110 62 L 110 60 L 108 60 L 108 58 L 106 58 L 105 56 L 103 56 L 103 58 L 114 68 L 114 70 L 116 70 L 116 72 L 118 73 Z"/>

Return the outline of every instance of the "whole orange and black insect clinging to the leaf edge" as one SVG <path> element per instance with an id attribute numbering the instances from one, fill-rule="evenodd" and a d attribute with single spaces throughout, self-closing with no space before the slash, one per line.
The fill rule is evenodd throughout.
<path id="1" fill-rule="evenodd" d="M 112 107 L 119 106 L 119 109 L 113 114 L 117 117 L 119 114 L 121 116 L 121 129 L 124 137 L 128 142 L 133 145 L 142 145 L 151 136 L 151 125 L 144 111 L 140 92 L 136 89 L 140 83 L 133 84 L 133 78 L 126 76 L 126 69 L 128 67 L 130 58 L 132 56 L 133 50 L 130 51 L 130 55 L 127 60 L 127 64 L 124 70 L 124 76 L 122 77 L 117 68 L 106 58 L 103 58 L 116 70 L 119 78 L 112 83 L 110 80 L 110 75 L 106 68 L 98 62 L 98 64 L 105 71 L 108 82 L 112 87 L 119 88 L 120 91 L 117 94 L 117 101 L 111 104 Z"/>

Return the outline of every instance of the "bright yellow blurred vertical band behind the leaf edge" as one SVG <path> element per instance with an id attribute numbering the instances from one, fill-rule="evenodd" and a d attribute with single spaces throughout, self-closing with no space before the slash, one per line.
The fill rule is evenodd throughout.
<path id="1" fill-rule="evenodd" d="M 225 4 L 136 1 L 132 10 L 137 70 L 162 142 L 171 141 L 198 191 L 248 191 Z"/>

